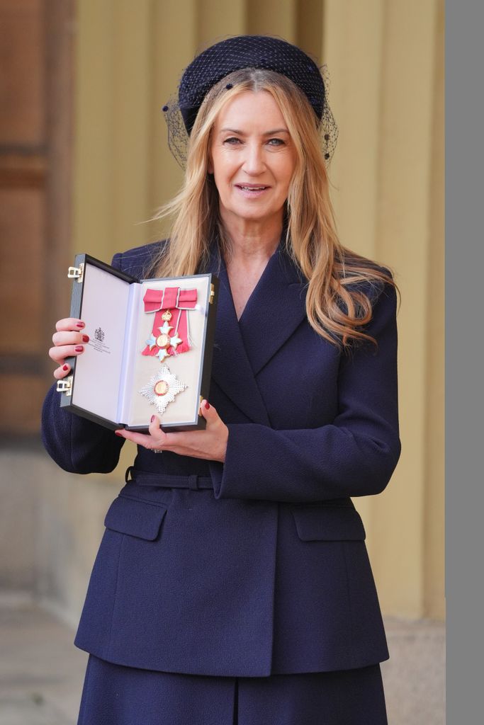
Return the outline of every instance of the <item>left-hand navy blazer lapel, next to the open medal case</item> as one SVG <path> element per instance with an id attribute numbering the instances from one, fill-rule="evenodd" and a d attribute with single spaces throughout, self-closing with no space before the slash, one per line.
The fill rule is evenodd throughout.
<path id="1" fill-rule="evenodd" d="M 227 397 L 254 423 L 270 426 L 240 333 L 225 263 L 213 247 L 208 271 L 218 276 L 216 334 L 212 376 Z"/>

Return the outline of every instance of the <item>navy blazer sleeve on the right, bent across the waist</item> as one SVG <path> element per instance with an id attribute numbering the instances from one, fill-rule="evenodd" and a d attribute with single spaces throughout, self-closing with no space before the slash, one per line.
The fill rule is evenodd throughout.
<path id="1" fill-rule="evenodd" d="M 396 293 L 385 285 L 366 331 L 378 343 L 343 354 L 329 425 L 274 430 L 229 423 L 226 460 L 211 463 L 217 499 L 316 502 L 377 494 L 398 462 Z"/>

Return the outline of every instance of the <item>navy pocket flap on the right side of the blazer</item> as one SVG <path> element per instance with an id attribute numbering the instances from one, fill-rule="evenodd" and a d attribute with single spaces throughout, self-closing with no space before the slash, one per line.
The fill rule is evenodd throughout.
<path id="1" fill-rule="evenodd" d="M 298 537 L 310 541 L 365 539 L 361 516 L 348 506 L 293 508 Z"/>

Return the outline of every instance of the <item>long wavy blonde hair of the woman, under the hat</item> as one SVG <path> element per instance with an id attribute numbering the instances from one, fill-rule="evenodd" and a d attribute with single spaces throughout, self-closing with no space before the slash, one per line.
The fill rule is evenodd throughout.
<path id="1" fill-rule="evenodd" d="M 173 215 L 174 222 L 169 243 L 153 262 L 152 276 L 197 273 L 208 262 L 214 238 L 221 252 L 230 254 L 230 239 L 218 212 L 218 191 L 208 178 L 208 158 L 218 113 L 234 96 L 247 91 L 271 94 L 295 146 L 297 162 L 286 202 L 285 244 L 308 283 L 309 324 L 338 347 L 364 339 L 376 344 L 361 330 L 372 319 L 372 299 L 358 283 L 369 285 L 369 292 L 385 283 L 397 288 L 392 272 L 340 244 L 316 115 L 295 83 L 271 70 L 232 72 L 205 97 L 189 138 L 183 186 L 155 215 L 155 219 Z"/>

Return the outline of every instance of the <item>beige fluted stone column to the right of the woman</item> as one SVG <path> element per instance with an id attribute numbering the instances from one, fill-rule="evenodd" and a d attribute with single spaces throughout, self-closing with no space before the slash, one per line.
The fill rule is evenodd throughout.
<path id="1" fill-rule="evenodd" d="M 327 0 L 323 47 L 340 236 L 393 267 L 402 296 L 401 460 L 356 505 L 385 613 L 442 619 L 443 3 Z"/>

